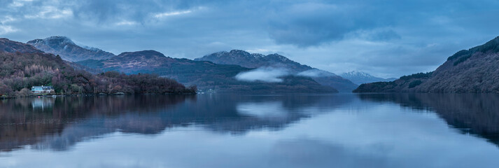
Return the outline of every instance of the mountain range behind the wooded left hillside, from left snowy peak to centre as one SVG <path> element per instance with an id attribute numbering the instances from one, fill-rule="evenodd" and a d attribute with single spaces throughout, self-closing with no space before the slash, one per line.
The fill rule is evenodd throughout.
<path id="1" fill-rule="evenodd" d="M 298 72 L 315 70 L 309 66 L 293 62 L 282 55 L 250 55 L 242 50 L 234 50 L 234 55 L 262 57 L 258 64 L 281 64 L 293 73 L 274 76 L 278 82 L 265 80 L 241 80 L 236 78 L 241 73 L 257 71 L 258 66 L 239 66 L 238 64 L 217 64 L 204 60 L 172 58 L 155 50 L 123 52 L 113 55 L 103 50 L 83 48 L 64 36 L 52 36 L 28 42 L 39 50 L 60 55 L 62 59 L 73 62 L 73 67 L 94 73 L 120 71 L 127 74 L 155 73 L 173 78 L 185 85 L 197 85 L 201 90 L 218 92 L 351 92 L 357 85 L 334 73 L 322 73 L 323 76 L 311 77 L 297 75 Z M 87 56 L 89 55 L 89 56 Z M 304 73 L 307 74 L 307 73 Z"/>

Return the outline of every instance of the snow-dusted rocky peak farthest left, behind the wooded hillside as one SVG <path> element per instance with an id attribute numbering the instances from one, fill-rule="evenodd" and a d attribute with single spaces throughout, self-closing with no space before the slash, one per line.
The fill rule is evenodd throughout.
<path id="1" fill-rule="evenodd" d="M 60 55 L 62 59 L 70 62 L 78 62 L 85 59 L 109 59 L 115 55 L 99 48 L 83 48 L 65 36 L 51 36 L 43 39 L 35 39 L 27 42 L 38 50 Z"/>

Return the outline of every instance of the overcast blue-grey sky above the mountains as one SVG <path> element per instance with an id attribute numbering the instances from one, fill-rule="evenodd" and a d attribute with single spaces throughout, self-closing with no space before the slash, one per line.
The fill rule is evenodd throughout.
<path id="1" fill-rule="evenodd" d="M 279 53 L 335 73 L 432 71 L 499 36 L 499 1 L 0 0 L 0 37 L 68 36 L 115 54 Z"/>

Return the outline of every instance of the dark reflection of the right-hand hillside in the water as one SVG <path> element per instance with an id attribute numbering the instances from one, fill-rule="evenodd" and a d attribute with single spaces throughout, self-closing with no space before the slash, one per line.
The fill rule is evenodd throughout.
<path id="1" fill-rule="evenodd" d="M 451 127 L 499 146 L 499 94 L 359 94 L 361 99 L 433 109 Z"/>

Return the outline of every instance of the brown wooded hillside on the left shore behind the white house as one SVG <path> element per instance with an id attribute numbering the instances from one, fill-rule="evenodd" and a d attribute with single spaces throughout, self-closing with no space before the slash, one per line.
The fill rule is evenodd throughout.
<path id="1" fill-rule="evenodd" d="M 26 97 L 35 85 L 51 85 L 55 94 L 195 93 L 169 78 L 152 74 L 126 75 L 116 71 L 92 74 L 74 69 L 58 55 L 31 45 L 0 38 L 0 95 Z"/>

